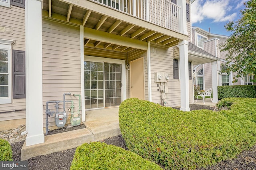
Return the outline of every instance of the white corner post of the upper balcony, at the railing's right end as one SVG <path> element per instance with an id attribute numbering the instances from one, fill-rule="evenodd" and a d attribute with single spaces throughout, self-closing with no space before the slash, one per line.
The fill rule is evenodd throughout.
<path id="1" fill-rule="evenodd" d="M 188 35 L 186 0 L 177 0 L 177 5 L 180 6 L 180 31 L 181 33 Z"/>

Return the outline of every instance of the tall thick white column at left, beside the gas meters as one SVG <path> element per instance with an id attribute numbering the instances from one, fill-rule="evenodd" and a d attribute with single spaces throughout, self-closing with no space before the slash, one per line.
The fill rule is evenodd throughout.
<path id="1" fill-rule="evenodd" d="M 42 0 L 26 0 L 26 146 L 44 143 Z"/>

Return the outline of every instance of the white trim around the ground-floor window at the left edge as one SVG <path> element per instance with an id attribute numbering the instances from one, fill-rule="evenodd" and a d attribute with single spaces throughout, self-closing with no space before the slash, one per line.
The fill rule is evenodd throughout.
<path id="1" fill-rule="evenodd" d="M 12 103 L 12 57 L 11 49 L 14 41 L 8 39 L 0 39 L 0 49 L 8 51 L 8 97 L 0 97 L 0 104 Z"/>

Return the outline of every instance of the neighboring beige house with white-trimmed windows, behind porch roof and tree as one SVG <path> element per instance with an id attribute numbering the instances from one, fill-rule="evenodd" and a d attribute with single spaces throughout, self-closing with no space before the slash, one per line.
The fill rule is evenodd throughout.
<path id="1" fill-rule="evenodd" d="M 205 31 L 199 27 L 192 26 L 192 43 L 197 47 L 207 51 L 208 53 L 218 57 L 218 72 L 222 70 L 222 63 L 226 63 L 226 51 L 220 51 L 218 45 L 226 42 L 228 36 L 218 35 Z M 212 88 L 212 70 L 210 63 L 198 64 L 193 68 L 194 84 L 200 87 L 200 90 L 206 90 Z M 252 85 L 251 81 L 253 76 L 244 76 L 243 78 L 238 78 L 237 82 L 233 83 L 233 76 L 236 76 L 235 72 L 228 74 L 218 74 L 218 86 L 230 86 L 230 85 Z"/>

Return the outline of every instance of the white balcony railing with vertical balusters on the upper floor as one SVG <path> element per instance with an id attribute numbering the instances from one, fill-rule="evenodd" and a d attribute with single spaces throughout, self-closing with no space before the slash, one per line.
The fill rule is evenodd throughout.
<path id="1" fill-rule="evenodd" d="M 180 7 L 170 0 L 94 0 L 116 10 L 180 32 Z"/>

